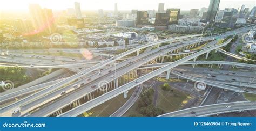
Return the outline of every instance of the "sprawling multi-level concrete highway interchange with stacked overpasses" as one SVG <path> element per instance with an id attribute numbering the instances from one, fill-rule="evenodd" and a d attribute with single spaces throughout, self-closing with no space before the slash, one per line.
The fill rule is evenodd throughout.
<path id="1" fill-rule="evenodd" d="M 235 31 L 236 34 L 239 33 L 244 33 L 247 32 L 248 28 L 241 28 Z M 160 40 L 157 42 L 152 42 L 148 43 L 146 45 L 138 46 L 134 45 L 132 47 L 125 47 L 125 49 L 130 49 L 127 50 L 124 53 L 118 54 L 116 56 L 104 54 L 104 57 L 110 57 L 107 60 L 100 60 L 98 61 L 85 61 L 85 60 L 80 60 L 78 58 L 73 59 L 70 57 L 60 57 L 56 56 L 56 61 L 54 62 L 55 64 L 52 64 L 52 56 L 46 56 L 46 55 L 37 55 L 37 57 L 41 57 L 41 61 L 38 61 L 38 59 L 35 59 L 34 63 L 35 65 L 31 66 L 29 63 L 29 59 L 26 60 L 26 57 L 28 54 L 22 54 L 22 56 L 19 56 L 19 53 L 16 53 L 17 50 L 14 50 L 12 54 L 15 54 L 14 56 L 5 56 L 5 57 L 0 57 L 0 61 L 5 61 L 7 62 L 12 62 L 12 63 L 23 63 L 21 65 L 16 65 L 16 64 L 1 64 L 1 66 L 6 66 L 6 67 L 25 67 L 25 68 L 56 68 L 56 67 L 68 67 L 68 68 L 74 68 L 76 66 L 79 66 L 80 68 L 83 67 L 82 71 L 78 71 L 77 74 L 68 77 L 68 78 L 63 78 L 55 82 L 49 82 L 47 84 L 41 84 L 41 86 L 32 86 L 30 89 L 24 89 L 21 91 L 16 91 L 14 93 L 6 94 L 4 96 L 0 97 L 0 100 L 3 101 L 4 99 L 11 99 L 14 98 L 15 96 L 21 95 L 27 90 L 30 91 L 35 91 L 35 90 L 41 90 L 36 93 L 31 94 L 28 97 L 25 97 L 21 100 L 16 101 L 15 103 L 12 103 L 8 106 L 5 106 L 1 108 L 0 113 L 1 116 L 28 116 L 28 117 L 36 117 L 36 116 L 50 116 L 53 113 L 58 112 L 58 116 L 60 117 L 68 117 L 72 116 L 75 117 L 79 114 L 82 114 L 85 111 L 90 110 L 93 107 L 96 107 L 99 104 L 104 103 L 107 100 L 110 100 L 111 98 L 114 98 L 118 96 L 119 94 L 122 94 L 134 87 L 137 87 L 137 92 L 138 93 L 136 96 L 137 97 L 131 97 L 129 100 L 127 100 L 127 103 L 125 103 L 117 112 L 112 114 L 111 116 L 122 116 L 129 108 L 133 105 L 134 101 L 138 99 L 139 93 L 142 91 L 142 88 L 139 86 L 143 84 L 143 82 L 148 81 L 149 79 L 158 76 L 160 74 L 163 74 L 164 72 L 167 72 L 167 76 L 169 74 L 174 74 L 180 77 L 183 77 L 185 79 L 188 79 L 190 81 L 200 81 L 200 78 L 196 77 L 191 77 L 185 74 L 181 74 L 180 72 L 177 71 L 172 71 L 171 69 L 174 67 L 177 67 L 179 65 L 185 65 L 185 64 L 192 64 L 192 65 L 197 65 L 197 64 L 230 64 L 230 65 L 235 65 L 235 66 L 240 66 L 240 67 L 250 67 L 250 68 L 255 68 L 255 65 L 252 64 L 244 64 L 244 63 L 235 63 L 235 62 L 219 62 L 219 61 L 196 61 L 197 57 L 199 55 L 209 53 L 211 50 L 218 50 L 219 52 L 225 53 L 227 55 L 231 55 L 233 57 L 237 57 L 238 59 L 240 57 L 234 56 L 230 53 L 223 52 L 223 50 L 220 49 L 220 47 L 226 46 L 231 39 L 228 39 L 224 43 L 217 44 L 218 39 L 224 39 L 228 35 L 234 35 L 234 31 L 230 33 L 224 33 L 218 36 L 211 36 L 211 37 L 201 37 L 201 35 L 187 35 L 183 37 L 177 37 L 177 38 L 171 38 L 171 39 L 166 39 L 166 40 Z M 210 42 L 211 45 L 207 48 L 203 48 L 202 50 L 198 50 L 197 52 L 190 52 L 190 53 L 183 53 L 183 50 L 193 48 L 195 46 L 198 46 L 199 39 L 197 37 L 200 37 L 200 42 L 207 42 L 207 41 L 212 41 Z M 217 40 L 215 40 L 217 39 Z M 178 41 L 175 41 L 178 40 Z M 182 42 L 181 42 L 182 41 Z M 164 45 L 160 46 L 161 43 L 166 43 L 170 42 L 169 45 Z M 139 53 L 140 50 L 148 47 L 156 46 L 157 48 L 147 50 L 147 52 L 144 53 Z M 122 49 L 124 47 L 117 47 L 116 49 Z M 102 50 L 112 50 L 113 48 L 104 48 L 104 49 L 92 49 L 93 52 L 99 52 Z M 54 49 L 53 49 L 54 50 Z M 65 52 L 79 52 L 79 50 L 65 50 Z M 115 49 L 114 49 L 115 50 Z M 129 54 L 132 53 L 137 53 L 137 55 L 132 56 L 132 57 L 125 57 Z M 186 55 L 180 60 L 177 60 L 175 62 L 170 62 L 170 63 L 158 63 L 158 64 L 150 64 L 151 61 L 157 61 L 157 59 L 160 61 L 160 58 L 163 58 L 163 56 L 171 56 L 173 54 L 177 55 Z M 34 56 L 35 57 L 35 56 Z M 100 56 L 102 57 L 102 56 Z M 16 59 L 17 58 L 17 59 Z M 21 61 L 18 59 L 21 59 L 25 61 Z M 116 63 L 117 60 L 119 63 Z M 162 59 L 163 60 L 163 59 Z M 193 60 L 193 61 L 189 61 Z M 63 62 L 65 61 L 65 62 Z M 86 67 L 86 69 L 85 69 Z M 152 72 L 145 74 L 143 76 L 137 75 L 138 70 L 143 70 L 143 69 L 148 69 L 148 68 L 158 68 L 157 70 L 153 70 Z M 137 79 L 125 79 L 125 75 L 130 75 L 133 74 L 135 78 L 140 76 Z M 166 77 L 167 77 L 166 76 Z M 130 77 L 129 77 L 130 78 Z M 98 83 L 101 83 L 102 81 L 107 83 L 111 83 L 111 88 L 113 88 L 112 91 L 105 91 L 101 96 L 98 96 L 94 98 L 94 93 L 95 91 L 102 91 L 100 90 L 102 87 L 98 86 Z M 118 86 L 118 83 L 120 81 L 127 81 L 126 84 Z M 204 82 L 206 85 L 210 85 L 216 88 L 221 88 L 221 89 L 226 89 L 226 90 L 232 90 L 235 92 L 246 92 L 246 93 L 256 93 L 253 88 L 256 88 L 254 84 L 250 85 L 249 88 L 246 90 L 243 88 L 240 88 L 238 86 L 233 86 L 235 84 L 231 85 L 226 85 L 226 83 L 216 83 L 213 81 L 208 81 L 207 79 L 204 79 Z M 54 84 L 55 83 L 55 84 Z M 81 85 L 81 87 L 78 87 L 78 85 Z M 113 84 L 113 85 L 112 85 Z M 241 83 L 239 83 L 241 84 Z M 93 88 L 92 88 L 93 87 Z M 65 91 L 66 94 L 62 96 L 60 93 Z M 79 103 L 79 99 L 83 97 L 90 97 L 89 101 L 87 101 L 84 104 Z M 69 111 L 66 111 L 62 113 L 62 109 L 66 106 L 69 106 L 73 104 L 74 102 L 76 106 L 72 108 Z M 249 103 L 253 104 L 253 103 Z M 21 113 L 19 114 L 11 114 L 11 110 L 14 110 L 15 108 L 20 107 L 21 108 Z M 239 108 L 238 106 L 237 108 Z M 199 109 L 198 109 L 199 110 Z M 241 108 L 241 110 L 255 110 L 255 108 L 246 108 L 245 106 Z M 237 111 L 237 110 L 234 110 Z M 217 111 L 219 112 L 225 112 L 225 111 Z M 196 116 L 207 116 L 207 115 L 212 115 L 207 112 L 203 112 L 199 115 Z"/>

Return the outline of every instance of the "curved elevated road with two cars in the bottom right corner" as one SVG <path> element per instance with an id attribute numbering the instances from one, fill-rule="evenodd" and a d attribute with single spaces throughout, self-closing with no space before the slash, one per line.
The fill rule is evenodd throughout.
<path id="1" fill-rule="evenodd" d="M 227 108 L 227 106 L 231 107 Z M 222 103 L 198 106 L 166 113 L 163 115 L 159 115 L 158 117 L 206 117 L 215 114 L 239 112 L 244 110 L 256 110 L 256 102 L 241 101 L 235 103 Z"/>

